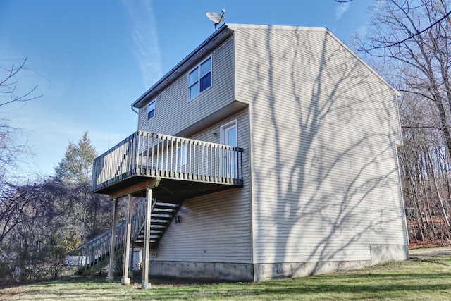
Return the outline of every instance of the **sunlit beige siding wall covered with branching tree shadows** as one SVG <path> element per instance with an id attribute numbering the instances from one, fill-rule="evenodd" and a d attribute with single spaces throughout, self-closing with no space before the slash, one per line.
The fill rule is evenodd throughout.
<path id="1" fill-rule="evenodd" d="M 235 29 L 251 104 L 254 263 L 371 259 L 407 245 L 396 94 L 322 29 Z"/>

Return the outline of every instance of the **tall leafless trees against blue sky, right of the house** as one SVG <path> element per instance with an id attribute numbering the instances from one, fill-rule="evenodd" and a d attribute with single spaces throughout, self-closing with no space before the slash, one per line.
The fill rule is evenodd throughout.
<path id="1" fill-rule="evenodd" d="M 403 94 L 399 154 L 410 239 L 449 243 L 451 3 L 373 3 L 368 34 L 357 49 Z"/>

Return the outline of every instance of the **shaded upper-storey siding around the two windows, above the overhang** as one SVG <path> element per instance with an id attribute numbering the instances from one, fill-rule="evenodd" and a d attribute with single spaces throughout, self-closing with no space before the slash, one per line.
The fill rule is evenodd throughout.
<path id="1" fill-rule="evenodd" d="M 212 59 L 211 87 L 196 98 L 188 100 L 188 73 L 185 73 L 156 96 L 154 118 L 147 120 L 149 103 L 142 106 L 138 118 L 138 129 L 175 135 L 233 102 L 235 100 L 233 50 L 233 38 L 230 37 L 209 54 Z M 206 57 L 208 56 L 203 59 Z M 192 68 L 201 61 L 192 62 Z"/>

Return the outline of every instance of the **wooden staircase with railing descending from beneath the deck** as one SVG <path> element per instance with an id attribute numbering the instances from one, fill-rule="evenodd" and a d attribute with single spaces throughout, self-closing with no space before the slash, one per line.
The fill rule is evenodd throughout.
<path id="1" fill-rule="evenodd" d="M 146 217 L 146 199 L 142 199 L 135 209 L 131 223 L 131 242 L 133 247 L 144 247 L 144 222 Z M 150 224 L 150 246 L 158 247 L 161 238 L 175 218 L 180 204 L 159 202 L 152 199 L 152 214 Z M 114 239 L 114 258 L 124 254 L 125 230 L 127 224 L 121 221 L 116 225 Z M 109 264 L 109 252 L 111 247 L 111 228 L 78 247 L 78 269 L 75 274 L 92 275 L 104 269 Z"/>

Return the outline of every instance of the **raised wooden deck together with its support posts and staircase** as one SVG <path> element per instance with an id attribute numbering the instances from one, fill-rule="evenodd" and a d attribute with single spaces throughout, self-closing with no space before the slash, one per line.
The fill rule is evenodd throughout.
<path id="1" fill-rule="evenodd" d="M 78 273 L 93 274 L 106 264 L 112 271 L 113 259 L 121 254 L 125 254 L 124 264 L 128 263 L 125 250 L 130 240 L 144 247 L 144 266 L 148 266 L 147 248 L 158 247 L 185 199 L 243 185 L 242 153 L 239 147 L 137 131 L 97 157 L 92 191 L 115 200 L 113 227 L 78 248 L 79 258 L 85 258 Z M 117 200 L 125 195 L 129 195 L 127 225 L 116 223 Z M 146 197 L 134 213 L 132 196 Z M 143 269 L 143 283 L 147 276 Z M 123 279 L 128 279 L 128 269 Z"/>

